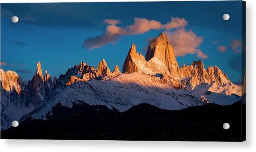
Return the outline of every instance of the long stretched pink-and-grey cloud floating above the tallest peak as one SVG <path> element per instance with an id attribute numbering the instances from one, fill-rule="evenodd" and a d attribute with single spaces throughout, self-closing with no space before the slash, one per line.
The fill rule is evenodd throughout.
<path id="1" fill-rule="evenodd" d="M 184 18 L 172 17 L 171 21 L 166 24 L 161 24 L 159 21 L 148 20 L 145 18 L 135 18 L 133 24 L 126 27 L 119 27 L 116 24 L 120 20 L 105 19 L 103 23 L 108 23 L 106 30 L 103 34 L 95 37 L 89 37 L 84 40 L 83 46 L 86 49 L 95 49 L 106 44 L 116 44 L 116 42 L 125 35 L 143 34 L 150 30 L 172 30 L 174 28 L 182 28 L 187 25 Z"/>

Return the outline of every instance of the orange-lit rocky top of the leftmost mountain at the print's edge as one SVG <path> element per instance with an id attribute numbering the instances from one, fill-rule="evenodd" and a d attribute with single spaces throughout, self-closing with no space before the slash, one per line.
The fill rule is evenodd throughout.
<path id="1" fill-rule="evenodd" d="M 16 92 L 20 93 L 21 91 L 21 83 L 22 79 L 18 76 L 18 74 L 14 71 L 6 71 L 0 70 L 0 80 L 1 87 L 4 88 L 5 91 L 8 92 Z"/>

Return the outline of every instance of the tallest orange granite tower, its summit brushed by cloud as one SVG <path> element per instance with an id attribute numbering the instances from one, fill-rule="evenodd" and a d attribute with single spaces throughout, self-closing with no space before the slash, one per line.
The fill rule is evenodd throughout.
<path id="1" fill-rule="evenodd" d="M 146 61 L 149 61 L 152 58 L 157 58 L 162 61 L 162 63 L 166 65 L 171 76 L 178 78 L 182 76 L 174 55 L 172 44 L 168 42 L 167 36 L 164 33 L 161 33 L 154 38 L 148 46 L 145 59 Z"/>

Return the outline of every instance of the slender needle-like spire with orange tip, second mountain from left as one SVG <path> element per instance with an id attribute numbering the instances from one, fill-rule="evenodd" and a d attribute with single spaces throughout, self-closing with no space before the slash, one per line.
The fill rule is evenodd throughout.
<path id="1" fill-rule="evenodd" d="M 35 106 L 43 103 L 43 99 L 45 97 L 45 85 L 43 81 L 43 73 L 41 68 L 41 63 L 37 63 L 37 71 L 35 72 L 31 84 L 32 90 L 34 92 L 34 102 Z"/>

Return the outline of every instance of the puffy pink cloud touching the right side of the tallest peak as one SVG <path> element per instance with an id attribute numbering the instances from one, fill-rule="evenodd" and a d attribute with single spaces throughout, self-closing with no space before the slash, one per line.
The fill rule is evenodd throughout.
<path id="1" fill-rule="evenodd" d="M 198 37 L 192 30 L 178 28 L 174 31 L 166 31 L 168 41 L 172 43 L 175 56 L 186 56 L 187 54 L 197 54 L 197 57 L 207 59 L 208 56 L 198 49 L 203 41 L 202 36 Z"/>

